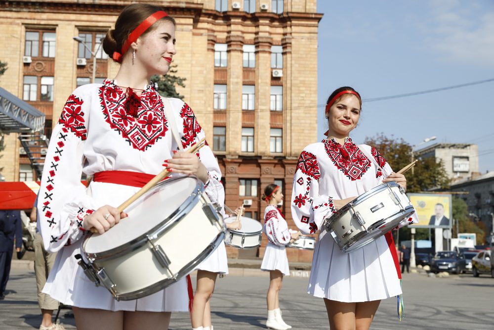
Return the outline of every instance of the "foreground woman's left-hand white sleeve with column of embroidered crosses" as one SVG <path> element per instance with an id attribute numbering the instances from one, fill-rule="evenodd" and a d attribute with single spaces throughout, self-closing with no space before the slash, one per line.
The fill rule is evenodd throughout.
<path id="1" fill-rule="evenodd" d="M 38 221 L 43 244 L 56 252 L 84 235 L 82 219 L 93 212 L 93 201 L 81 183 L 83 146 L 87 137 L 87 87 L 71 94 L 53 129 L 38 197 Z"/>

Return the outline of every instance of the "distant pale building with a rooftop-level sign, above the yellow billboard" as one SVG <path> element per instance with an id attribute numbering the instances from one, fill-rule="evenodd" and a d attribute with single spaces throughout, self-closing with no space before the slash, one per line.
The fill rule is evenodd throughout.
<path id="1" fill-rule="evenodd" d="M 452 182 L 467 179 L 479 172 L 479 148 L 470 143 L 435 143 L 418 151 L 416 156 L 442 160 Z"/>

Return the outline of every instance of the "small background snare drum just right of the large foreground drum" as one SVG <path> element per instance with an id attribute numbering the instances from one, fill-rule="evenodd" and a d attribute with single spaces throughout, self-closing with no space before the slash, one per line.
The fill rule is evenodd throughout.
<path id="1" fill-rule="evenodd" d="M 226 223 L 231 223 L 237 220 L 237 217 L 229 217 L 225 219 Z M 259 221 L 240 217 L 242 228 L 240 230 L 228 230 L 225 243 L 239 249 L 252 249 L 261 245 L 262 225 Z"/>

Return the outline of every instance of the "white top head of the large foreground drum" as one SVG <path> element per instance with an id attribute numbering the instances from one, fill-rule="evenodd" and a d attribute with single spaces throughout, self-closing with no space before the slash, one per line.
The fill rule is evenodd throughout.
<path id="1" fill-rule="evenodd" d="M 83 250 L 86 253 L 108 251 L 150 232 L 185 202 L 197 184 L 193 177 L 173 178 L 157 184 L 124 210 L 127 218 L 103 235 L 89 237 Z"/>

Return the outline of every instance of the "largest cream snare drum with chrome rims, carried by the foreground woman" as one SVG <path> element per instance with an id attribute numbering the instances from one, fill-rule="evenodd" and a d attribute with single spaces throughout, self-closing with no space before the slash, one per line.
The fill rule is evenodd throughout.
<path id="1" fill-rule="evenodd" d="M 142 298 L 189 274 L 223 240 L 223 219 L 195 177 L 163 181 L 103 235 L 86 236 L 79 265 L 117 300 Z M 81 257 L 79 256 L 79 259 Z"/>

